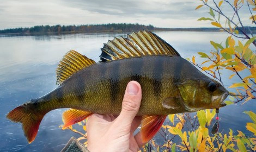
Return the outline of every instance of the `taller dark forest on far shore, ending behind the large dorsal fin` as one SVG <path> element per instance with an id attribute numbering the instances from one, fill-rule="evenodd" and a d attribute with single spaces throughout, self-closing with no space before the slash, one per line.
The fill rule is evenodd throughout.
<path id="1" fill-rule="evenodd" d="M 80 26 L 34 26 L 31 28 L 14 28 L 0 30 L 0 34 L 33 34 L 33 33 L 95 33 L 95 32 L 123 32 L 138 30 L 154 30 L 154 26 L 144 26 L 142 24 L 87 24 Z"/>

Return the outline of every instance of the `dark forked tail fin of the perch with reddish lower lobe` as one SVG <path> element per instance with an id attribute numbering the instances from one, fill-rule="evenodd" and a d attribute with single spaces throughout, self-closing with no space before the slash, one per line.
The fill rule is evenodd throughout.
<path id="1" fill-rule="evenodd" d="M 10 111 L 7 118 L 13 122 L 22 123 L 22 129 L 27 137 L 28 143 L 35 140 L 39 125 L 45 113 L 35 110 L 33 103 L 26 103 Z"/>

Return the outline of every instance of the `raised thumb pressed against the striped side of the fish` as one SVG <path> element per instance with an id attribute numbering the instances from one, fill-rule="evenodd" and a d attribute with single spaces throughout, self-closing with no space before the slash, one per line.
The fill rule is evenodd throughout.
<path id="1" fill-rule="evenodd" d="M 139 111 L 141 105 L 142 90 L 141 85 L 136 81 L 130 81 L 127 84 L 124 99 L 122 103 L 122 110 L 117 117 L 117 122 L 123 125 L 131 126 L 133 119 Z"/>

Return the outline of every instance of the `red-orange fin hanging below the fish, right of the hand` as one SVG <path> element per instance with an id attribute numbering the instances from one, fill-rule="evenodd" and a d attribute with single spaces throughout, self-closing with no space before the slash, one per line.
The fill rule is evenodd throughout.
<path id="1" fill-rule="evenodd" d="M 143 116 L 142 117 L 142 141 L 147 143 L 161 128 L 166 116 Z"/>

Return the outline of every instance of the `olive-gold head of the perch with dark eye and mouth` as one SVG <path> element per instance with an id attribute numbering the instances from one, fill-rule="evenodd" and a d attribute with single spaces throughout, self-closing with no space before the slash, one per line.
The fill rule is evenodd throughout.
<path id="1" fill-rule="evenodd" d="M 214 79 L 186 79 L 177 83 L 180 99 L 187 111 L 216 109 L 226 104 L 229 92 Z"/>

